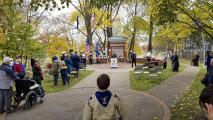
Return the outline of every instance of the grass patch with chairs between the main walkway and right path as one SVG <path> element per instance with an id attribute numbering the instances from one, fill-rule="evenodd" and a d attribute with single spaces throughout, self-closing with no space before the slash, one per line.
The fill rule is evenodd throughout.
<path id="1" fill-rule="evenodd" d="M 184 69 L 184 65 L 180 65 L 179 71 L 182 71 Z M 172 72 L 171 70 L 171 63 L 167 64 L 167 69 L 163 70 L 163 72 L 157 77 L 148 79 L 147 76 L 142 75 L 140 78 L 135 77 L 134 71 L 130 71 L 130 83 L 131 88 L 133 90 L 139 90 L 139 91 L 146 91 L 151 89 L 152 87 L 160 84 L 162 81 L 168 79 L 169 77 L 175 75 L 175 72 Z"/>

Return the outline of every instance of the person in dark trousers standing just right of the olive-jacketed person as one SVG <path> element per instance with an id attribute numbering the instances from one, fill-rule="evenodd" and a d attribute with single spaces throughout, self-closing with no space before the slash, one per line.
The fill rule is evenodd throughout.
<path id="1" fill-rule="evenodd" d="M 61 61 L 61 68 L 60 68 L 61 78 L 63 85 L 70 84 L 68 79 L 68 73 L 67 73 L 67 66 L 64 61 Z"/>

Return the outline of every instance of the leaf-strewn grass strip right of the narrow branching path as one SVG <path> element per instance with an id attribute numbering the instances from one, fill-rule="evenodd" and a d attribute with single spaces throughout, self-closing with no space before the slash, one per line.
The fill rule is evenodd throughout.
<path id="1" fill-rule="evenodd" d="M 205 75 L 206 69 L 201 67 L 194 83 L 181 100 L 173 107 L 172 120 L 205 120 L 199 106 L 199 96 L 204 88 L 200 80 Z"/>

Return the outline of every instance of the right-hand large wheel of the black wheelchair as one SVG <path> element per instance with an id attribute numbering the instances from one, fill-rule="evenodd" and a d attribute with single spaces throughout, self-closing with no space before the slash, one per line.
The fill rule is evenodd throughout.
<path id="1" fill-rule="evenodd" d="M 25 108 L 29 109 L 36 104 L 37 94 L 34 91 L 30 91 L 25 97 Z"/>

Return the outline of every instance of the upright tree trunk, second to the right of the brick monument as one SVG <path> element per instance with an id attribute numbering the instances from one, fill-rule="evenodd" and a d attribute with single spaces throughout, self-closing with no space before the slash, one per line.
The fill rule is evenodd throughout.
<path id="1" fill-rule="evenodd" d="M 153 17 L 150 15 L 148 51 L 152 53 Z"/>

